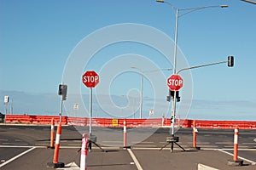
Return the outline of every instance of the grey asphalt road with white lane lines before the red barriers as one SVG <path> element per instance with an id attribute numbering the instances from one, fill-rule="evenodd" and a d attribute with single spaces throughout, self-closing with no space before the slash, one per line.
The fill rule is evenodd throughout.
<path id="1" fill-rule="evenodd" d="M 88 127 L 62 127 L 59 162 L 65 169 L 79 169 L 82 133 Z M 230 167 L 233 160 L 234 130 L 198 129 L 197 146 L 192 149 L 192 129 L 181 128 L 175 133 L 186 151 L 170 144 L 170 128 L 135 128 L 127 130 L 127 144 L 124 149 L 121 128 L 93 127 L 100 150 L 93 144 L 87 156 L 88 169 L 200 169 L 208 166 L 217 169 L 256 169 L 256 130 L 239 130 L 239 159 L 244 161 L 240 167 Z M 50 169 L 54 150 L 49 146 L 49 126 L 0 125 L 0 169 Z M 167 145 L 166 145 L 167 144 Z M 163 146 L 165 146 L 163 148 Z M 162 150 L 160 150 L 162 149 Z"/>

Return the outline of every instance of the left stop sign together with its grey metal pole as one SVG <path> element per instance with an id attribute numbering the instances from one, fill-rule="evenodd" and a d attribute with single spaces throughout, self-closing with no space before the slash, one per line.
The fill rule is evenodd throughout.
<path id="1" fill-rule="evenodd" d="M 91 117 L 92 117 L 92 88 L 95 88 L 96 85 L 99 83 L 99 75 L 96 71 L 86 71 L 82 77 L 82 82 L 87 88 L 90 88 L 90 127 L 89 127 L 89 137 L 92 136 L 91 133 Z"/>

